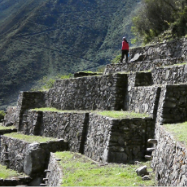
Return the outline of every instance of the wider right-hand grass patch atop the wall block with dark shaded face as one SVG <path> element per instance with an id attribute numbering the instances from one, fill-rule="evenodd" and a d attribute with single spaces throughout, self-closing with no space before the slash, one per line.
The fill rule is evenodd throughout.
<path id="1" fill-rule="evenodd" d="M 117 119 L 149 117 L 149 115 L 147 114 L 140 114 L 140 113 L 129 112 L 129 111 L 96 111 L 94 113 L 106 117 L 117 118 Z"/>

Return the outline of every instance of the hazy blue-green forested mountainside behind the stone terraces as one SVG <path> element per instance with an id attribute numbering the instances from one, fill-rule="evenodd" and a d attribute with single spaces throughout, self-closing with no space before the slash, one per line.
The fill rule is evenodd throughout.
<path id="1" fill-rule="evenodd" d="M 43 76 L 109 63 L 140 0 L 0 0 L 0 106 Z"/>

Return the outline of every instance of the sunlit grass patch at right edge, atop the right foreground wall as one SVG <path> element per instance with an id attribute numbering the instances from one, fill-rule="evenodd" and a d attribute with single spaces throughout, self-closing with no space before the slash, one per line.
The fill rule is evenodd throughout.
<path id="1" fill-rule="evenodd" d="M 172 133 L 177 141 L 187 145 L 187 122 L 177 124 L 166 124 L 165 129 Z"/>

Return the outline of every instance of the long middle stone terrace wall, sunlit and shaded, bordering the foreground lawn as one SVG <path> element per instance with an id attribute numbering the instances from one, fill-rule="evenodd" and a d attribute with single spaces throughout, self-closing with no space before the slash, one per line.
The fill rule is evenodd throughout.
<path id="1" fill-rule="evenodd" d="M 42 113 L 41 123 L 38 123 L 39 113 Z M 141 159 L 146 140 L 154 136 L 154 120 L 151 118 L 119 120 L 94 113 L 29 111 L 27 121 L 24 133 L 33 134 L 37 128 L 38 135 L 63 138 L 70 151 L 102 162 L 126 163 Z M 40 126 L 36 127 L 36 124 Z M 126 144 L 121 144 L 122 141 Z"/>

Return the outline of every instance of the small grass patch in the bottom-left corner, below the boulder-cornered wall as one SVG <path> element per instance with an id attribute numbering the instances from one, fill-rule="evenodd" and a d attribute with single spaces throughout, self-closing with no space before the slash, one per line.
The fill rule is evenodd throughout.
<path id="1" fill-rule="evenodd" d="M 19 177 L 20 175 L 20 173 L 11 169 L 6 169 L 6 166 L 0 165 L 0 178 L 9 179 L 11 177 Z"/>

